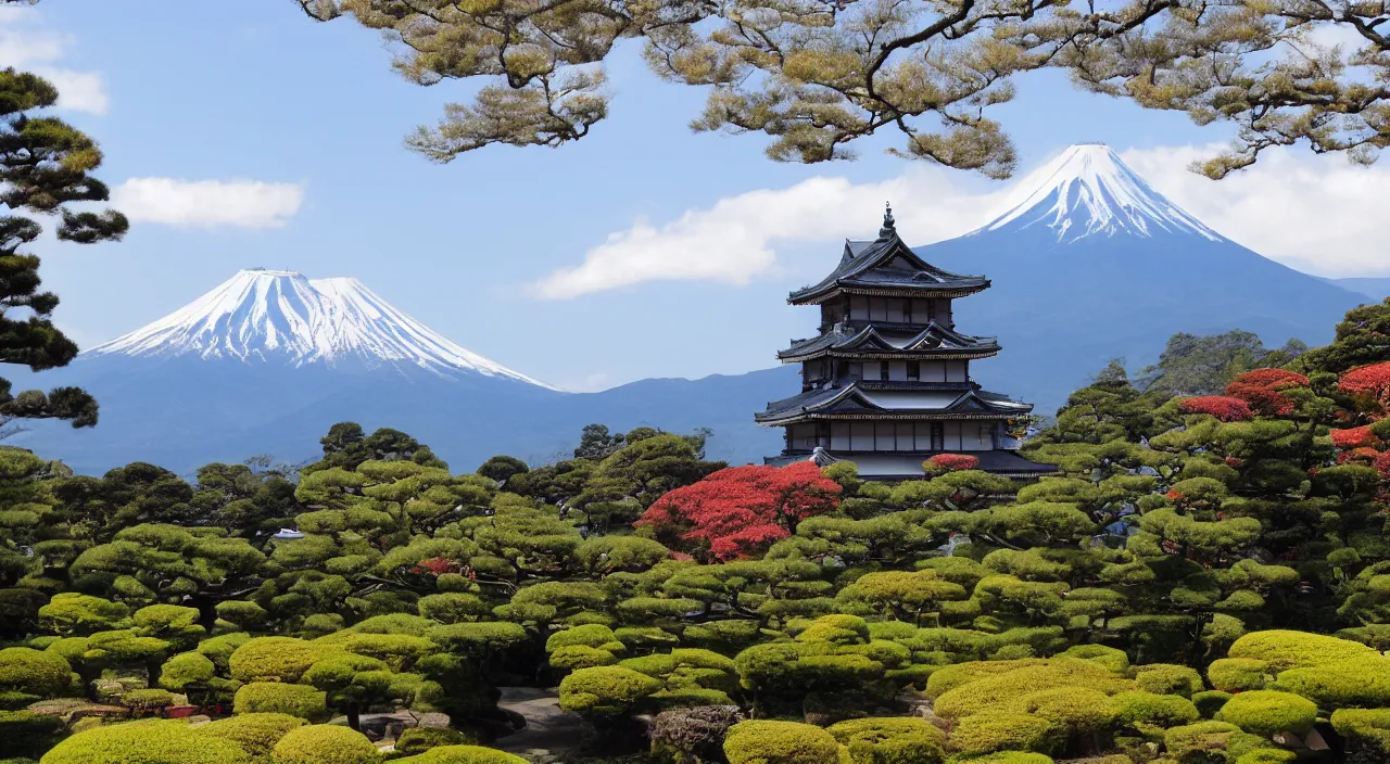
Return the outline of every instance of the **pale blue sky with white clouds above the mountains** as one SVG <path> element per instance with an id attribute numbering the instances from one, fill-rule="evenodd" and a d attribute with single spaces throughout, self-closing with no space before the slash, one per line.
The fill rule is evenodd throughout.
<path id="1" fill-rule="evenodd" d="M 103 179 L 129 182 L 125 199 L 142 208 L 122 243 L 39 250 L 64 300 L 57 319 L 82 346 L 267 267 L 356 276 L 471 350 L 569 389 L 742 372 L 812 331 L 787 292 L 833 265 L 838 239 L 872 236 L 884 196 L 899 231 L 930 243 L 983 222 L 1009 188 L 883 154 L 895 136 L 859 146 L 858 161 L 803 167 L 764 158 L 758 136 L 694 135 L 703 92 L 660 83 L 631 44 L 609 68 L 610 118 L 589 138 L 435 165 L 403 136 L 481 83 L 411 85 L 375 33 L 314 24 L 289 0 L 44 0 L 0 18 L 0 64 L 74 85 L 64 115 L 101 142 Z M 1364 219 L 1365 196 L 1390 189 L 1384 169 L 1289 154 L 1213 183 L 1183 165 L 1225 128 L 1090 96 L 1054 72 L 1019 85 L 995 115 L 1024 171 L 1106 142 L 1257 251 L 1327 275 L 1390 272 L 1364 226 L 1344 242 L 1314 228 L 1329 214 Z M 220 208 L 158 208 L 171 203 L 161 189 L 183 182 L 210 183 L 189 199 Z M 606 242 L 687 278 L 571 296 L 573 268 Z"/>

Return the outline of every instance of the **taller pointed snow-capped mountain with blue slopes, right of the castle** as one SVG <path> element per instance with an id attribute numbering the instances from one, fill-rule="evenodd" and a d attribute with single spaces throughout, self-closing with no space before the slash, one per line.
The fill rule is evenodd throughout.
<path id="1" fill-rule="evenodd" d="M 916 251 L 990 276 L 991 289 L 958 301 L 956 322 L 999 335 L 1004 351 L 972 371 L 1040 413 L 1111 358 L 1151 363 L 1175 332 L 1319 344 L 1366 301 L 1226 239 L 1106 146 L 1073 146 L 1030 179 L 990 224 Z"/>

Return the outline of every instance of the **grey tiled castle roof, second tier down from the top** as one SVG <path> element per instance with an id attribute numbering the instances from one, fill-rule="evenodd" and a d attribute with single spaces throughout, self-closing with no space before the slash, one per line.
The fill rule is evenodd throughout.
<path id="1" fill-rule="evenodd" d="M 986 358 L 1001 350 L 997 338 L 963 335 L 935 321 L 923 329 L 903 329 L 869 324 L 859 331 L 837 324 L 826 333 L 796 340 L 777 353 L 784 363 L 805 361 L 819 356 L 867 358 Z"/>

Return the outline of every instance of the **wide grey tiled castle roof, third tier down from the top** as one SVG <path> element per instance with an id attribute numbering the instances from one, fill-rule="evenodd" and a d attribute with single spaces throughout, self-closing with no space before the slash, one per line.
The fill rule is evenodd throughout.
<path id="1" fill-rule="evenodd" d="M 783 426 L 803 420 L 1008 420 L 1030 411 L 1031 403 L 974 388 L 866 389 L 855 382 L 769 403 L 753 418 L 762 425 Z"/>

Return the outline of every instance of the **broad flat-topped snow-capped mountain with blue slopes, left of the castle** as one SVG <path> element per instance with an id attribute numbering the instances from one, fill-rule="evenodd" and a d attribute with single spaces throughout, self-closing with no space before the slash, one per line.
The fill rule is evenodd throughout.
<path id="1" fill-rule="evenodd" d="M 548 461 L 591 422 L 710 426 L 712 458 L 742 464 L 780 447 L 751 413 L 794 386 L 794 372 L 571 395 L 466 350 L 356 279 L 250 269 L 65 368 L 0 375 L 17 389 L 78 385 L 101 407 L 96 428 L 36 422 L 7 445 L 86 474 L 146 461 L 186 475 L 257 454 L 313 458 L 342 421 L 407 432 L 457 471 L 495 454 Z"/>

